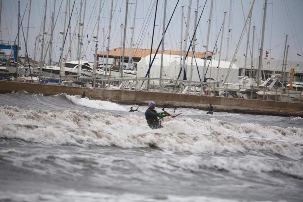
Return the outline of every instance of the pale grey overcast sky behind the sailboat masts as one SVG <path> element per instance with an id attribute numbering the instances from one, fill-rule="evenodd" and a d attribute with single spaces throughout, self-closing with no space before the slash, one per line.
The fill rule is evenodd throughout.
<path id="1" fill-rule="evenodd" d="M 46 13 L 46 26 L 45 31 L 49 34 L 51 33 L 51 15 L 54 11 L 55 5 L 55 17 L 57 23 L 54 29 L 54 42 L 52 48 L 52 60 L 58 61 L 60 56 L 59 48 L 62 46 L 63 37 L 59 33 L 63 31 L 64 17 L 65 17 L 65 8 L 66 2 L 68 0 L 48 0 L 47 1 L 47 13 Z M 42 33 L 43 30 L 43 16 L 44 16 L 44 6 L 45 2 L 43 0 L 32 0 L 32 8 L 30 13 L 29 28 L 28 24 L 28 9 L 29 9 L 29 0 L 20 1 L 20 14 L 23 18 L 23 29 L 26 37 L 26 31 L 29 29 L 28 36 L 28 54 L 30 57 L 34 58 L 34 47 L 35 47 L 35 38 L 37 35 Z M 75 8 L 71 18 L 71 32 L 72 37 L 72 60 L 77 59 L 77 35 L 78 35 L 78 25 L 77 20 L 80 12 L 80 2 L 81 0 L 75 1 Z M 83 0 L 84 2 L 84 0 Z M 83 23 L 84 31 L 83 35 L 84 41 L 82 46 L 82 54 L 85 54 L 85 58 L 88 61 L 93 61 L 93 53 L 95 48 L 95 42 L 93 42 L 92 35 L 97 35 L 97 16 L 99 8 L 99 0 L 87 0 L 86 9 L 85 9 L 85 20 Z M 231 11 L 231 35 L 230 35 L 230 48 L 228 51 L 229 59 L 235 51 L 236 44 L 240 37 L 245 18 L 248 15 L 252 0 L 233 0 L 232 1 L 232 11 Z M 70 1 L 68 4 L 67 12 L 68 17 L 70 17 L 69 8 L 72 10 L 74 0 Z M 169 18 L 175 8 L 177 0 L 168 0 L 167 11 L 166 11 L 166 24 L 168 23 Z M 227 33 L 228 33 L 228 18 L 229 18 L 229 3 L 228 0 L 214 0 L 213 12 L 212 12 L 212 21 L 211 21 L 211 31 L 210 31 L 210 41 L 208 51 L 212 51 L 215 46 L 216 37 L 218 36 L 221 24 L 223 22 L 223 11 L 227 11 L 226 20 L 225 20 L 225 30 L 222 46 L 222 56 L 225 58 L 227 54 Z M 61 5 L 62 4 L 62 5 Z M 201 14 L 202 7 L 205 4 L 205 1 L 198 1 L 198 18 Z M 196 51 L 204 52 L 205 48 L 202 45 L 206 45 L 207 38 L 207 29 L 208 29 L 208 18 L 210 11 L 211 0 L 208 0 L 206 7 L 201 17 L 200 24 L 197 30 L 197 43 Z M 59 10 L 59 7 L 61 8 Z M 180 0 L 176 8 L 176 12 L 172 18 L 171 24 L 168 28 L 168 31 L 165 35 L 165 50 L 179 50 L 180 47 L 180 36 L 181 36 L 181 6 L 184 5 L 184 14 L 186 21 L 186 15 L 188 12 L 188 0 Z M 98 35 L 99 49 L 98 51 L 105 51 L 104 46 L 107 46 L 107 33 L 109 27 L 109 12 L 110 12 L 111 0 L 102 0 L 102 10 L 100 18 L 100 29 Z M 254 44 L 254 57 L 258 57 L 258 43 L 261 41 L 261 27 L 262 27 L 262 13 L 263 13 L 263 0 L 256 0 L 253 7 L 252 20 L 251 20 L 251 33 L 250 33 L 250 47 L 252 46 L 252 26 L 256 26 L 255 32 L 255 44 Z M 242 9 L 243 7 L 243 9 Z M 125 0 L 114 0 L 114 13 L 112 18 L 112 30 L 111 30 L 111 43 L 110 48 L 120 47 L 121 46 L 121 24 L 124 24 L 125 21 Z M 194 10 L 197 9 L 197 0 L 192 1 L 191 8 L 191 20 L 189 25 L 189 34 L 192 35 L 194 32 Z M 126 47 L 129 47 L 131 41 L 131 29 L 133 26 L 135 10 L 135 0 L 129 0 L 128 6 L 128 22 L 127 22 L 127 42 Z M 290 46 L 288 60 L 290 61 L 303 61 L 303 57 L 297 55 L 303 55 L 303 1 L 302 0 L 268 0 L 267 6 L 267 15 L 266 15 L 266 30 L 265 30 L 265 43 L 264 49 L 268 50 L 269 58 L 283 59 L 285 37 L 288 34 L 288 45 Z M 244 12 L 244 15 L 243 15 Z M 1 40 L 14 41 L 17 36 L 17 27 L 18 27 L 18 1 L 17 0 L 3 0 L 2 5 L 2 15 L 1 15 Z M 83 13 L 84 5 L 82 6 L 82 19 L 83 22 Z M 162 23 L 163 23 L 163 13 L 164 13 L 164 0 L 158 2 L 158 12 L 157 20 L 155 27 L 155 37 L 153 48 L 156 48 L 161 40 L 162 33 Z M 155 0 L 138 0 L 136 21 L 135 21 L 135 34 L 134 34 L 134 44 L 138 48 L 150 48 L 151 46 L 151 34 L 153 29 L 153 21 L 155 15 Z M 245 16 L 245 17 L 244 17 Z M 66 26 L 68 21 L 66 23 Z M 185 24 L 185 23 L 184 23 Z M 104 29 L 102 29 L 104 28 Z M 185 31 L 185 26 L 183 27 L 183 32 Z M 148 32 L 149 38 L 148 38 Z M 75 37 L 76 35 L 76 37 Z M 87 37 L 88 35 L 88 37 Z M 184 38 L 184 33 L 182 34 Z M 221 34 L 220 34 L 221 37 Z M 42 39 L 42 37 L 39 37 Z M 48 42 L 49 36 L 45 36 L 45 43 Z M 70 44 L 70 38 L 66 40 L 64 55 L 66 55 L 66 50 Z M 20 55 L 25 55 L 25 43 L 22 35 L 22 29 L 20 30 L 20 41 L 22 50 Z M 91 41 L 88 43 L 88 41 Z M 243 57 L 245 54 L 245 45 L 247 41 L 247 35 L 245 33 L 237 58 Z M 37 40 L 38 42 L 38 40 Z M 37 47 L 41 45 L 37 43 Z M 188 43 L 189 45 L 189 43 Z M 103 46 L 103 48 L 102 48 Z M 218 40 L 218 48 L 220 48 L 220 38 Z M 187 49 L 187 48 L 186 48 Z M 37 49 L 38 50 L 38 49 Z M 5 51 L 7 52 L 7 51 Z M 39 53 L 41 50 L 38 50 L 36 55 L 36 60 L 40 58 Z M 249 51 L 248 51 L 249 52 Z M 166 52 L 169 54 L 169 52 Z M 250 55 L 248 53 L 248 55 Z M 265 56 L 265 54 L 264 54 Z M 218 55 L 216 56 L 218 60 Z M 48 61 L 48 55 L 46 57 L 46 62 Z"/>

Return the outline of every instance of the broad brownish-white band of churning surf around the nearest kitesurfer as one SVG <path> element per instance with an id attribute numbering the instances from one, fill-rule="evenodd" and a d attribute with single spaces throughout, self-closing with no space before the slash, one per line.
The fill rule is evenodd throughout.
<path id="1" fill-rule="evenodd" d="M 165 118 L 162 129 L 151 130 L 146 120 L 135 114 L 114 116 L 109 113 L 91 114 L 83 111 L 50 112 L 47 110 L 20 110 L 16 107 L 0 107 L 0 137 L 19 138 L 25 141 L 49 144 L 96 144 L 101 146 L 149 147 L 155 145 L 172 151 L 193 153 L 220 152 L 268 152 L 300 158 L 303 144 L 288 141 L 268 141 L 265 138 L 247 139 L 245 128 L 254 130 L 254 125 L 228 124 L 228 122 L 201 121 L 199 119 Z M 254 136 L 266 135 L 262 127 Z M 243 129 L 244 128 L 244 129 Z M 282 128 L 279 128 L 282 130 Z M 275 129 L 277 130 L 277 129 Z M 300 128 L 283 129 L 291 137 L 301 138 Z M 261 131 L 261 132 L 259 132 Z M 261 133 L 261 134 L 258 134 Z M 245 138 L 243 138 L 245 136 Z M 289 136 L 289 137 L 288 137 Z M 279 135 L 274 136 L 280 138 Z M 284 137 L 281 135 L 281 137 Z"/>

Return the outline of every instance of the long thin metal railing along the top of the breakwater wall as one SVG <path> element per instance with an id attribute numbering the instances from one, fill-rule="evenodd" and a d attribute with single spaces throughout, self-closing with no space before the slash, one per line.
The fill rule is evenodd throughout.
<path id="1" fill-rule="evenodd" d="M 64 76 L 70 77 L 72 81 L 81 81 L 90 84 L 93 77 L 80 75 Z M 302 91 L 290 91 L 281 86 L 260 87 L 256 85 L 245 86 L 239 84 L 223 84 L 219 81 L 186 81 L 176 79 L 163 79 L 159 85 L 158 78 L 124 77 L 124 78 L 96 78 L 95 87 L 104 89 L 120 89 L 149 92 L 165 92 L 176 94 L 192 94 L 209 97 L 227 97 L 237 99 L 256 99 L 263 101 L 302 102 Z"/>

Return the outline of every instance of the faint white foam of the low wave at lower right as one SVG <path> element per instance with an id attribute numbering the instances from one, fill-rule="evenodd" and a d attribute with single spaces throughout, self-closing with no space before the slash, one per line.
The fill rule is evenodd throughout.
<path id="1" fill-rule="evenodd" d="M 181 157 L 181 159 L 174 157 L 151 158 L 148 159 L 147 163 L 145 157 L 139 157 L 137 159 L 127 159 L 127 161 L 131 161 L 132 164 L 139 166 L 142 172 L 144 172 L 144 176 L 153 175 L 154 173 L 148 171 L 155 169 L 167 174 L 181 171 L 180 173 L 184 175 L 184 171 L 188 171 L 190 174 L 191 172 L 203 171 L 207 168 L 228 171 L 237 175 L 243 174 L 244 171 L 251 174 L 279 172 L 303 179 L 303 164 L 301 162 L 282 162 L 274 158 L 189 156 Z M 152 178 L 152 176 L 149 177 Z"/>

